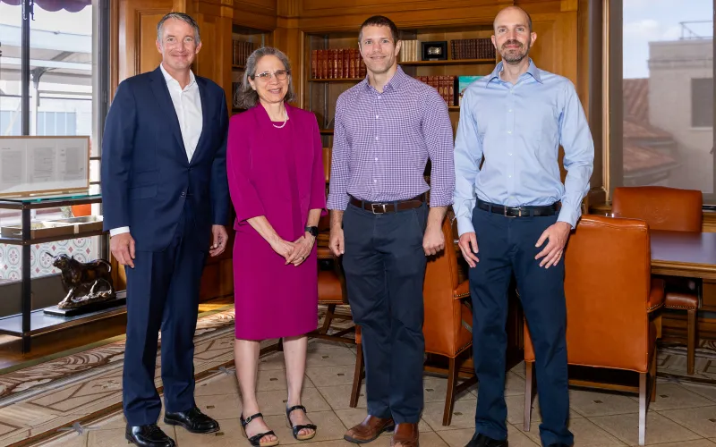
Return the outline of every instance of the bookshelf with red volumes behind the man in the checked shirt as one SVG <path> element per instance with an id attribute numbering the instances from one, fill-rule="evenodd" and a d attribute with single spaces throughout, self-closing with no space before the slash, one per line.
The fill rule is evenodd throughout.
<path id="1" fill-rule="evenodd" d="M 492 23 L 401 29 L 400 32 L 404 46 L 398 55 L 398 63 L 409 76 L 439 90 L 446 99 L 453 131 L 456 131 L 460 112 L 459 77 L 487 75 L 498 62 L 490 41 Z M 304 38 L 301 106 L 316 114 L 323 146 L 329 148 L 333 145 L 333 120 L 338 96 L 365 77 L 358 50 L 358 35 L 356 30 L 306 32 Z M 443 43 L 443 59 L 423 60 L 422 43 L 428 42 Z M 325 62 L 322 58 L 326 59 Z M 463 87 L 467 81 L 468 78 L 463 79 Z"/>

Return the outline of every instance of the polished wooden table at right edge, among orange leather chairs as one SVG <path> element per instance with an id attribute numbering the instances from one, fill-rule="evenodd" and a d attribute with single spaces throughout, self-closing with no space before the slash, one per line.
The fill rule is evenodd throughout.
<path id="1" fill-rule="evenodd" d="M 716 279 L 716 232 L 650 233 L 652 274 Z"/>

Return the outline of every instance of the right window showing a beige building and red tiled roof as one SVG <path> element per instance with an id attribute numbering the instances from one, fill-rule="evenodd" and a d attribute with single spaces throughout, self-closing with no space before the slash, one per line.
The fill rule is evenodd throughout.
<path id="1" fill-rule="evenodd" d="M 609 189 L 702 190 L 716 203 L 714 0 L 609 0 Z"/>

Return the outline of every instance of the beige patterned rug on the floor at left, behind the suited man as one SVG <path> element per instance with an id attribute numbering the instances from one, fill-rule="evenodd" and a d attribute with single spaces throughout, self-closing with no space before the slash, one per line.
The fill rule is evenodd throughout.
<path id="1" fill-rule="evenodd" d="M 262 347 L 276 341 L 262 343 Z M 195 375 L 234 363 L 234 307 L 203 313 L 194 338 Z M 121 409 L 124 337 L 0 376 L 0 445 L 30 443 L 75 422 Z M 158 356 L 155 383 L 161 389 Z"/>

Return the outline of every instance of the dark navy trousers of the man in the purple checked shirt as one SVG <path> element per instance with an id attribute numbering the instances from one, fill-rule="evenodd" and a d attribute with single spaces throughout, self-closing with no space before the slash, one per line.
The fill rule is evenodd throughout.
<path id="1" fill-rule="evenodd" d="M 361 325 L 368 414 L 417 423 L 422 411 L 422 238 L 428 207 L 343 216 L 348 301 Z"/>

